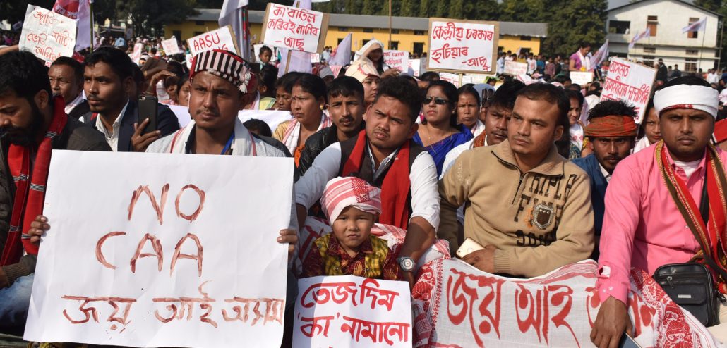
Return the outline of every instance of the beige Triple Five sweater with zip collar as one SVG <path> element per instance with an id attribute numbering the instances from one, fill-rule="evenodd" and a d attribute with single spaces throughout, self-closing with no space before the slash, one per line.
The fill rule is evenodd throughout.
<path id="1" fill-rule="evenodd" d="M 452 255 L 470 237 L 497 248 L 495 273 L 542 276 L 586 260 L 593 252 L 590 179 L 555 148 L 522 173 L 503 141 L 464 152 L 439 183 L 438 237 Z M 465 204 L 465 235 L 457 236 L 457 207 Z"/>

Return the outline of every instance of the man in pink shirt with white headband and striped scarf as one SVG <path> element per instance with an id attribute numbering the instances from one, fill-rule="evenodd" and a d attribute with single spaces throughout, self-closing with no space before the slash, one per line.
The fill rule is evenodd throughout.
<path id="1" fill-rule="evenodd" d="M 727 292 L 723 246 L 727 220 L 724 192 L 727 152 L 710 144 L 718 94 L 707 81 L 683 76 L 654 94 L 662 140 L 621 161 L 606 191 L 596 291 L 601 299 L 590 339 L 596 347 L 617 347 L 624 331 L 633 335 L 628 315 L 631 268 L 648 274 L 662 265 L 705 263 L 716 290 Z M 697 237 L 699 236 L 699 237 Z M 719 269 L 718 269 L 719 268 Z M 720 325 L 708 328 L 727 340 L 727 305 Z"/>

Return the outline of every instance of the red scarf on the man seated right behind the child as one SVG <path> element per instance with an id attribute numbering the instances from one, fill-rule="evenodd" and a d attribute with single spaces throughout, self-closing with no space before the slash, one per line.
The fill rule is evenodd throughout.
<path id="1" fill-rule="evenodd" d="M 341 176 L 346 177 L 361 171 L 361 163 L 364 162 L 364 149 L 368 140 L 366 130 L 361 130 L 361 133 L 358 133 L 356 146 L 353 146 L 353 152 L 343 165 Z M 401 146 L 393 161 L 381 185 L 379 223 L 395 225 L 406 230 L 409 227 L 410 214 L 406 198 L 409 196 L 409 188 L 411 187 L 411 181 L 409 181 L 409 140 Z"/>

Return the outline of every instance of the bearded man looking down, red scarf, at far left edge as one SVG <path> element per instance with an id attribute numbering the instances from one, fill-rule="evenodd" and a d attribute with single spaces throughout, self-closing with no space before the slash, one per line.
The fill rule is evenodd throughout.
<path id="1" fill-rule="evenodd" d="M 0 130 L 0 327 L 12 327 L 28 312 L 38 255 L 29 233 L 47 222 L 39 215 L 51 151 L 111 149 L 100 133 L 65 114 L 46 68 L 25 51 L 0 56 Z"/>

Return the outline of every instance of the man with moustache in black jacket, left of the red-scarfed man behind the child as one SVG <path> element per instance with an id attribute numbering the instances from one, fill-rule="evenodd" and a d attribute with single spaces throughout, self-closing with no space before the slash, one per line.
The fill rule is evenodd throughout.
<path id="1" fill-rule="evenodd" d="M 305 141 L 305 148 L 300 154 L 298 174 L 303 176 L 313 165 L 316 156 L 326 147 L 347 141 L 366 129 L 364 123 L 364 85 L 356 78 L 341 76 L 328 86 L 328 115 L 332 126 L 318 130 Z"/>

